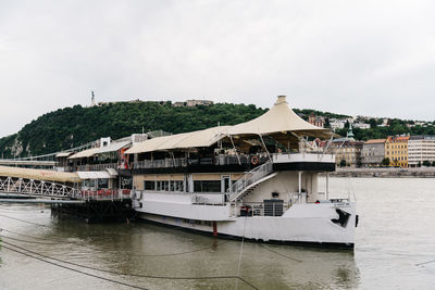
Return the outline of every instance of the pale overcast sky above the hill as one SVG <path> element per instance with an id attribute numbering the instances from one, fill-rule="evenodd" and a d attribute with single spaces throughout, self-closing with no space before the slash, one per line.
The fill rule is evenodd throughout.
<path id="1" fill-rule="evenodd" d="M 97 101 L 435 119 L 435 1 L 0 0 L 0 137 Z"/>

